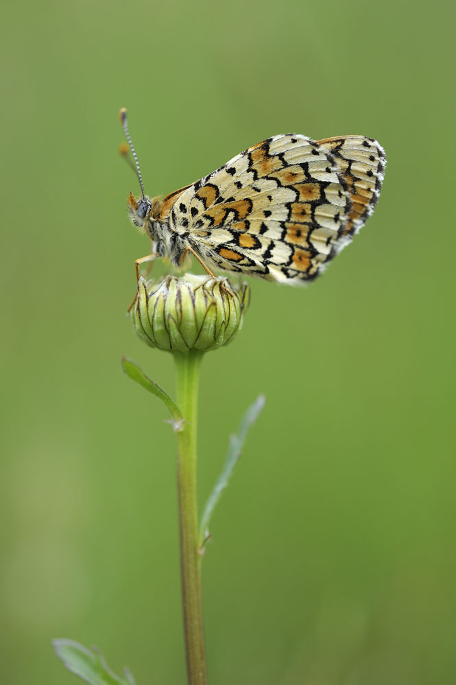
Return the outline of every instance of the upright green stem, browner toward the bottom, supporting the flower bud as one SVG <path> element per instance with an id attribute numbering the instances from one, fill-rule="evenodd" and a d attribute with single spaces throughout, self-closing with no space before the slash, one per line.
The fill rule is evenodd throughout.
<path id="1" fill-rule="evenodd" d="M 174 359 L 178 376 L 177 403 L 185 421 L 183 430 L 177 435 L 180 570 L 187 676 L 189 685 L 206 685 L 196 493 L 197 401 L 202 352 L 176 352 Z"/>

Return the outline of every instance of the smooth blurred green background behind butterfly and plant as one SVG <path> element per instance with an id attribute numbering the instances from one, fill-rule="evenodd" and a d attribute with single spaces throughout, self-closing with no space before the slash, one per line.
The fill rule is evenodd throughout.
<path id="1" fill-rule="evenodd" d="M 307 289 L 254 281 L 206 355 L 200 501 L 267 404 L 204 559 L 211 683 L 456 682 L 453 3 L 62 1 L 3 9 L 1 680 L 66 685 L 53 637 L 183 683 L 175 442 L 128 354 L 147 241 L 125 203 L 280 132 L 365 134 L 376 212 Z M 158 267 L 157 272 L 164 270 Z"/>

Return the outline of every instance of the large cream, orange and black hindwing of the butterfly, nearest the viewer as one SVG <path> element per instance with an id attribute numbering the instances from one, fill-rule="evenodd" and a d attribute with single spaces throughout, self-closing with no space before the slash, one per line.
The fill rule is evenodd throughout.
<path id="1" fill-rule="evenodd" d="M 215 268 L 311 280 L 361 221 L 361 171 L 349 164 L 351 148 L 333 154 L 333 140 L 355 137 L 320 143 L 287 134 L 258 143 L 184 191 L 170 228 Z"/>

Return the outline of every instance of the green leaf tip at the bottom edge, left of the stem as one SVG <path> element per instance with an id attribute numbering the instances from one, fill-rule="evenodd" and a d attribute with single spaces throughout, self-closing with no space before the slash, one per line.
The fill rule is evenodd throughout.
<path id="1" fill-rule="evenodd" d="M 104 657 L 96 649 L 87 649 L 74 640 L 53 640 L 59 659 L 71 673 L 89 685 L 134 685 L 132 675 L 125 669 L 125 678 L 112 673 Z"/>

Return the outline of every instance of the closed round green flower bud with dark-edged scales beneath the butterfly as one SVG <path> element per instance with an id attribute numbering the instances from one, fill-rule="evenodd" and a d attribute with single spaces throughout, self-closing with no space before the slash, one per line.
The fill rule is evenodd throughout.
<path id="1" fill-rule="evenodd" d="M 215 350 L 235 337 L 250 300 L 245 283 L 236 289 L 226 278 L 185 274 L 160 283 L 139 279 L 130 316 L 148 345 L 160 350 Z"/>

